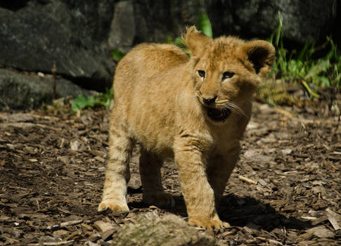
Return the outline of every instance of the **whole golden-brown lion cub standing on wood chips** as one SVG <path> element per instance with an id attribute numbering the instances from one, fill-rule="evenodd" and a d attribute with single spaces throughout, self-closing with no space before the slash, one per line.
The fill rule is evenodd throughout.
<path id="1" fill-rule="evenodd" d="M 140 44 L 115 72 L 109 158 L 101 211 L 128 211 L 129 158 L 142 145 L 143 200 L 174 206 L 162 188 L 160 167 L 174 158 L 189 224 L 219 229 L 216 206 L 236 165 L 251 114 L 252 94 L 274 61 L 267 41 L 210 39 L 189 27 L 184 44 Z"/>

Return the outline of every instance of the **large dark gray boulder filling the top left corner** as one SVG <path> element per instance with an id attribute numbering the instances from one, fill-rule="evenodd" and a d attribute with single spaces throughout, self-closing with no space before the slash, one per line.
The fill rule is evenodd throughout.
<path id="1" fill-rule="evenodd" d="M 8 4 L 10 5 L 10 4 Z M 14 5 L 14 4 L 13 4 Z M 0 8 L 0 64 L 110 87 L 114 64 L 107 49 L 113 1 L 27 1 Z"/>

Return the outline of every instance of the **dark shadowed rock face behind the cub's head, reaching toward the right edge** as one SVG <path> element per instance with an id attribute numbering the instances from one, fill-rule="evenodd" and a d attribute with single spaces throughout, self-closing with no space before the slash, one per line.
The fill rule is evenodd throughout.
<path id="1" fill-rule="evenodd" d="M 267 39 L 276 32 L 280 12 L 287 44 L 319 43 L 326 41 L 326 35 L 338 32 L 340 5 L 337 0 L 136 0 L 136 41 L 165 41 L 167 34 L 179 36 L 202 12 L 209 15 L 214 36 Z"/>

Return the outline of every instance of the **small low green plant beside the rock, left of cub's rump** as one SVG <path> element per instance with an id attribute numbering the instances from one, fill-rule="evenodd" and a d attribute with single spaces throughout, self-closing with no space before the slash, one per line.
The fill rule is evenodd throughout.
<path id="1" fill-rule="evenodd" d="M 73 112 L 78 112 L 79 110 L 88 107 L 108 107 L 112 98 L 114 98 L 112 88 L 107 89 L 105 93 L 98 93 L 96 96 L 84 96 L 83 94 L 79 94 L 79 96 L 73 100 L 71 109 Z"/>

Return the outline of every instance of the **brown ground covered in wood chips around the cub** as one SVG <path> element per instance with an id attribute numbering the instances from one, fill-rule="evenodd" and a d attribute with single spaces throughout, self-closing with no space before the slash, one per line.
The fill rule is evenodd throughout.
<path id="1" fill-rule="evenodd" d="M 255 103 L 243 153 L 219 205 L 219 216 L 232 227 L 215 238 L 226 245 L 341 245 L 337 104 L 276 109 Z M 96 212 L 108 109 L 84 110 L 78 117 L 69 110 L 65 105 L 0 113 L 0 245 L 109 245 L 136 214 L 186 219 L 172 162 L 165 163 L 163 179 L 176 208 L 143 204 L 138 148 L 131 163 L 131 211 Z M 109 230 L 101 232 L 103 226 Z"/>

